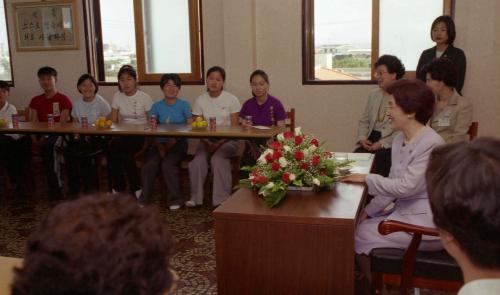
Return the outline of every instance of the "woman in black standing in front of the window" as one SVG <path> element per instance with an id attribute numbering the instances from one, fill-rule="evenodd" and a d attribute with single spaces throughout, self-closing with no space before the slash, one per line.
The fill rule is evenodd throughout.
<path id="1" fill-rule="evenodd" d="M 426 49 L 420 55 L 417 65 L 417 78 L 426 81 L 424 66 L 435 58 L 446 57 L 457 67 L 457 84 L 455 89 L 462 93 L 465 80 L 466 58 L 462 49 L 454 47 L 456 31 L 455 22 L 449 15 L 442 15 L 432 22 L 431 39 L 436 42 L 436 46 Z"/>

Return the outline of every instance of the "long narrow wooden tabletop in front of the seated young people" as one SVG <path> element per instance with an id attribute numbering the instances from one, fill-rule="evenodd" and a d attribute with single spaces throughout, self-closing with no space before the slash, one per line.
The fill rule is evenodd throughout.
<path id="1" fill-rule="evenodd" d="M 92 134 L 92 135 L 118 135 L 118 136 L 164 136 L 164 137 L 190 137 L 190 138 L 271 138 L 283 132 L 285 127 L 271 127 L 270 129 L 243 129 L 239 126 L 218 126 L 216 130 L 192 130 L 187 125 L 160 124 L 155 130 L 149 125 L 113 124 L 111 129 L 99 129 L 89 126 L 81 128 L 78 123 L 56 123 L 49 128 L 46 122 L 19 122 L 19 128 L 12 128 L 9 124 L 0 127 L 0 133 L 29 133 L 29 134 Z"/>

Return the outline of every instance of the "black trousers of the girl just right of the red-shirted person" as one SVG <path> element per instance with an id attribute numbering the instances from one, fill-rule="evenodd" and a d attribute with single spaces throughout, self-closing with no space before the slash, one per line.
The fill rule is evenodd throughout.
<path id="1" fill-rule="evenodd" d="M 95 155 L 107 152 L 107 140 L 100 136 L 71 137 L 64 149 L 68 174 L 69 194 L 80 192 L 83 186 L 85 193 L 98 189 L 97 163 Z"/>

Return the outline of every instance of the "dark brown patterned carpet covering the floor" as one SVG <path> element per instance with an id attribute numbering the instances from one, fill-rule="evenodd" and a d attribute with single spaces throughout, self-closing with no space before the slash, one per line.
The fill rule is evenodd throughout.
<path id="1" fill-rule="evenodd" d="M 39 167 L 35 170 L 40 171 Z M 41 175 L 35 177 L 34 183 L 27 202 L 16 202 L 10 192 L 0 190 L 0 256 L 23 257 L 24 245 L 31 231 L 58 203 L 46 197 Z M 152 206 L 159 208 L 176 240 L 171 263 L 180 281 L 174 294 L 217 294 L 213 208 L 203 206 L 170 211 L 166 209 L 159 187 Z"/>

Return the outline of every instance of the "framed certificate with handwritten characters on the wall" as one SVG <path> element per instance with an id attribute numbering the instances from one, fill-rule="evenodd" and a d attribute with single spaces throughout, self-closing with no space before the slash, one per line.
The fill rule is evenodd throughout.
<path id="1" fill-rule="evenodd" d="M 78 49 L 74 0 L 12 4 L 18 51 Z"/>

